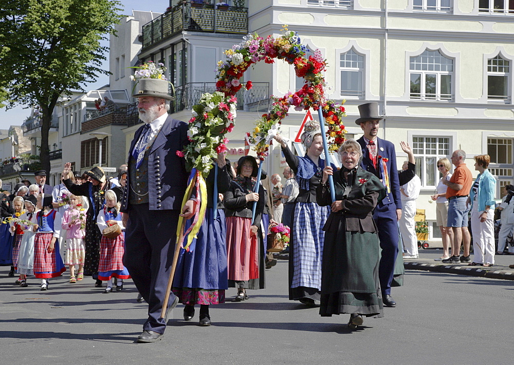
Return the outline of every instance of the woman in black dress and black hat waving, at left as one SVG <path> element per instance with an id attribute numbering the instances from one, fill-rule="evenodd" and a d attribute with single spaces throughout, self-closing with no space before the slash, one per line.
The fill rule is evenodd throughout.
<path id="1" fill-rule="evenodd" d="M 93 276 L 96 280 L 95 286 L 102 287 L 102 281 L 98 280 L 98 263 L 100 259 L 100 240 L 102 232 L 96 223 L 97 215 L 105 203 L 105 191 L 109 188 L 109 182 L 101 167 L 93 167 L 85 172 L 89 181 L 82 185 L 75 184 L 72 180 L 71 164 L 64 164 L 63 175 L 67 179 L 63 181 L 71 194 L 82 195 L 88 199 L 89 207 L 86 216 L 85 247 L 86 257 L 84 260 L 84 275 Z"/>

